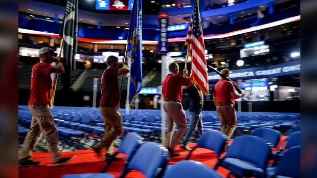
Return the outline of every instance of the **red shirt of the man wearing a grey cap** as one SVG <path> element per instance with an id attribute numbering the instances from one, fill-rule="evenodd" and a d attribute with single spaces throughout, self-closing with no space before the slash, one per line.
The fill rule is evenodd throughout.
<path id="1" fill-rule="evenodd" d="M 31 93 L 28 105 L 51 105 L 53 81 L 49 73 L 52 65 L 38 62 L 33 65 L 31 75 Z"/>

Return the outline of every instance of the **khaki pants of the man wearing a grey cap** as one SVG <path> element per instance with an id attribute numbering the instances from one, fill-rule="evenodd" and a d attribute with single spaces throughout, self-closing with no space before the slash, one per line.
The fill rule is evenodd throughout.
<path id="1" fill-rule="evenodd" d="M 30 158 L 33 148 L 40 139 L 41 134 L 47 141 L 50 147 L 53 158 L 58 158 L 58 131 L 54 123 L 54 117 L 51 113 L 50 106 L 47 105 L 29 105 L 33 115 L 31 127 L 23 143 L 22 153 L 19 161 L 24 161 Z"/>

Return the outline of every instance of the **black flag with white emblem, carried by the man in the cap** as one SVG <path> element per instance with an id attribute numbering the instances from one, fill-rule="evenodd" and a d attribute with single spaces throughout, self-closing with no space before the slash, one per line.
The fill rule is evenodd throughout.
<path id="1" fill-rule="evenodd" d="M 77 54 L 77 22 L 78 0 L 68 0 L 59 36 L 63 39 L 63 65 L 65 72 L 61 75 L 63 89 L 69 92 L 71 88 L 72 71 L 76 69 Z"/>

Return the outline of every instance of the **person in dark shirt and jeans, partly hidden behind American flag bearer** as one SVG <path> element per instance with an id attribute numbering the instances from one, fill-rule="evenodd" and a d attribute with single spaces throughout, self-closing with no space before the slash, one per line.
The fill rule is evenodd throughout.
<path id="1" fill-rule="evenodd" d="M 195 132 L 195 128 L 197 125 L 197 130 L 199 133 L 199 137 L 203 134 L 202 129 L 202 120 L 201 120 L 201 110 L 203 106 L 203 94 L 200 88 L 196 84 L 192 84 L 186 87 L 187 95 L 189 97 L 189 114 L 190 114 L 190 126 L 185 132 L 185 137 L 182 142 L 180 142 L 179 149 L 183 151 L 191 151 L 187 145 L 188 139 Z"/>

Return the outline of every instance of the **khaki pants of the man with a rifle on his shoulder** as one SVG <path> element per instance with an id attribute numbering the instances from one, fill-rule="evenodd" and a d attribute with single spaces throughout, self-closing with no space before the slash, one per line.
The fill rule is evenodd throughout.
<path id="1" fill-rule="evenodd" d="M 220 131 L 227 135 L 229 140 L 238 125 L 235 107 L 233 104 L 225 106 L 216 105 L 216 109 L 221 122 Z"/>

